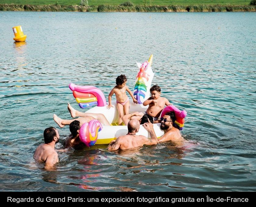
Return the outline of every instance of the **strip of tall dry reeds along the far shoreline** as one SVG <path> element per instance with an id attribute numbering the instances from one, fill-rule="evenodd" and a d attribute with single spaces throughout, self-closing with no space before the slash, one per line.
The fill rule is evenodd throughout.
<path id="1" fill-rule="evenodd" d="M 34 12 L 255 12 L 256 5 L 14 5 L 0 4 L 0 11 Z"/>

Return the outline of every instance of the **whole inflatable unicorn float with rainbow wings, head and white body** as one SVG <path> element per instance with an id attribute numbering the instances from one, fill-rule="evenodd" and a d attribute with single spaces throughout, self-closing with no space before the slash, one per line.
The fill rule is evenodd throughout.
<path id="1" fill-rule="evenodd" d="M 132 100 L 130 101 L 129 112 L 133 113 L 135 111 L 143 112 L 146 111 L 148 106 L 143 106 L 143 102 L 150 97 L 151 82 L 154 77 L 154 72 L 151 68 L 153 61 L 153 54 L 151 54 L 148 61 L 143 64 L 137 63 L 140 71 L 137 74 L 133 95 L 138 101 L 138 104 L 134 104 Z M 116 100 L 112 100 L 112 105 L 110 109 L 107 109 L 107 102 L 102 91 L 94 86 L 77 86 L 73 83 L 69 84 L 69 88 L 73 91 L 73 96 L 79 103 L 81 108 L 92 107 L 87 112 L 88 113 L 101 113 L 104 114 L 108 122 L 112 126 L 102 126 L 98 120 L 92 120 L 89 123 L 84 123 L 80 128 L 80 140 L 84 142 L 87 146 L 93 146 L 94 144 L 109 144 L 112 140 L 117 139 L 121 135 L 126 135 L 128 133 L 127 126 L 117 126 L 118 122 L 118 110 L 116 106 Z M 167 106 L 162 111 L 160 117 L 162 118 L 167 112 L 174 111 L 176 121 L 175 125 L 180 130 L 183 129 L 185 117 L 187 115 L 186 111 L 180 111 L 173 105 Z M 160 138 L 164 131 L 160 129 L 161 123 L 153 124 L 155 134 Z M 149 137 L 148 131 L 144 127 L 140 127 L 137 135 L 144 135 Z"/>

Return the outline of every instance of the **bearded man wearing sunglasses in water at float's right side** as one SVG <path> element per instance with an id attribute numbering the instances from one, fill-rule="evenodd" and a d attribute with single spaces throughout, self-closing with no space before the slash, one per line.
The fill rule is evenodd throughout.
<path id="1" fill-rule="evenodd" d="M 173 125 L 175 121 L 175 115 L 173 112 L 166 113 L 161 118 L 160 128 L 165 131 L 165 134 L 158 139 L 158 142 L 172 141 L 175 145 L 182 145 L 184 142 L 183 137 L 180 134 L 180 130 Z"/>

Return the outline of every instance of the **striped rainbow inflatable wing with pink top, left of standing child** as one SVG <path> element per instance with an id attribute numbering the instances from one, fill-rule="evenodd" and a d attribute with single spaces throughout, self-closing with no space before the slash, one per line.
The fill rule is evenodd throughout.
<path id="1" fill-rule="evenodd" d="M 94 105 L 107 105 L 102 91 L 94 86 L 77 86 L 73 83 L 69 83 L 69 88 L 73 91 L 73 96 L 82 109 Z"/>

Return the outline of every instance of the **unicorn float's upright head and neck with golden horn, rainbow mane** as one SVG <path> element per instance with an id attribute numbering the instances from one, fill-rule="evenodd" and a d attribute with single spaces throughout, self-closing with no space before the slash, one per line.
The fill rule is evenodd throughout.
<path id="1" fill-rule="evenodd" d="M 133 95 L 139 104 L 143 103 L 150 96 L 149 89 L 154 77 L 154 72 L 151 68 L 152 61 L 153 54 L 151 54 L 148 61 L 145 61 L 143 64 L 137 63 L 140 71 L 138 72 L 135 80 Z"/>

